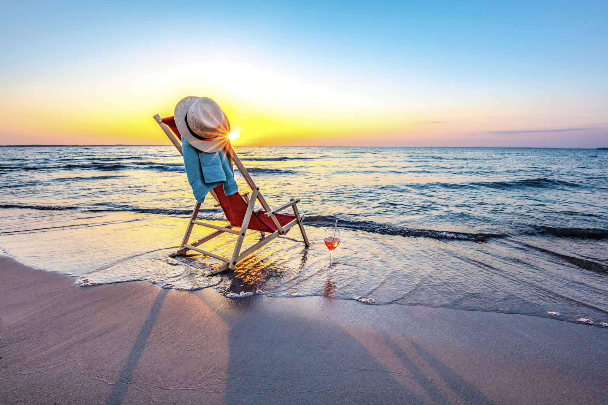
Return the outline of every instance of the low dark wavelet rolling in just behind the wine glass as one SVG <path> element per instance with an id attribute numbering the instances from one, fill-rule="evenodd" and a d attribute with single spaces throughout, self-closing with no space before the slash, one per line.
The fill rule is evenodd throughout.
<path id="1" fill-rule="evenodd" d="M 391 225 L 389 223 L 378 223 L 373 221 L 352 221 L 338 219 L 333 216 L 316 215 L 306 217 L 304 223 L 312 226 L 333 226 L 338 220 L 340 228 L 347 228 L 382 235 L 400 235 L 410 237 L 430 237 L 433 239 L 456 239 L 456 240 L 477 240 L 485 242 L 492 237 L 504 237 L 503 234 L 494 233 L 467 233 L 454 231 L 436 231 L 418 228 L 406 228 L 404 226 Z"/>

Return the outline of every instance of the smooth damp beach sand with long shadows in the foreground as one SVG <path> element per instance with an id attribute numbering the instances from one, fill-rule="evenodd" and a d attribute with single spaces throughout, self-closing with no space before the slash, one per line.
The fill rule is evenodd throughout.
<path id="1" fill-rule="evenodd" d="M 608 402 L 606 328 L 0 275 L 2 404 Z"/>

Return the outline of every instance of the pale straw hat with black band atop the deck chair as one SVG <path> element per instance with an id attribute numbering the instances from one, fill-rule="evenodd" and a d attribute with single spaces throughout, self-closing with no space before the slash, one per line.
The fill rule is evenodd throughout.
<path id="1" fill-rule="evenodd" d="M 182 98 L 173 117 L 182 137 L 199 151 L 217 152 L 229 143 L 228 117 L 209 97 Z"/>

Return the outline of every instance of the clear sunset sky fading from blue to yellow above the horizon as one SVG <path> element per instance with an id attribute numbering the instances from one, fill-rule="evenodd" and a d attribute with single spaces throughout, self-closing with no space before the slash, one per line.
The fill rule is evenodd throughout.
<path id="1" fill-rule="evenodd" d="M 608 146 L 608 2 L 2 2 L 0 145 Z"/>

